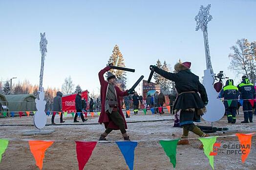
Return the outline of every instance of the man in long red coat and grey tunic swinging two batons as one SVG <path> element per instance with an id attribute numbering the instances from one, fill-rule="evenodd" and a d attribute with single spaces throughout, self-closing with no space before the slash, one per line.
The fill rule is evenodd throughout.
<path id="1" fill-rule="evenodd" d="M 99 80 L 101 84 L 101 114 L 99 123 L 104 123 L 106 131 L 100 136 L 99 140 L 107 140 L 107 135 L 113 130 L 120 130 L 124 140 L 129 140 L 129 136 L 126 133 L 127 123 L 122 112 L 120 97 L 128 96 L 133 93 L 133 90 L 122 91 L 116 85 L 116 77 L 107 72 L 111 68 L 103 68 L 99 72 Z M 104 74 L 107 72 L 107 81 L 104 79 Z"/>

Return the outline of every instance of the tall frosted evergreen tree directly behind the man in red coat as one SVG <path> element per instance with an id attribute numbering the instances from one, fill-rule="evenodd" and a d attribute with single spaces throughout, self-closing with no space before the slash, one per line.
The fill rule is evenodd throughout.
<path id="1" fill-rule="evenodd" d="M 118 45 L 114 46 L 112 55 L 109 57 L 107 64 L 112 63 L 114 66 L 125 67 L 123 54 L 120 52 Z M 117 62 L 118 61 L 118 62 Z M 126 72 L 123 70 L 111 69 L 110 72 L 116 76 L 117 82 L 122 89 L 126 89 Z"/>

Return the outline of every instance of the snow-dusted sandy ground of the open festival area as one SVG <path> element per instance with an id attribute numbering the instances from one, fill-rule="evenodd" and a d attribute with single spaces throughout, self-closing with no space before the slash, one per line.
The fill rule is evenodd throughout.
<path id="1" fill-rule="evenodd" d="M 47 118 L 47 123 L 51 122 L 51 117 Z M 165 119 L 165 120 L 164 120 Z M 131 115 L 128 122 L 143 120 L 162 120 L 128 123 L 128 135 L 132 140 L 157 140 L 167 138 L 178 138 L 182 135 L 181 128 L 173 128 L 174 117 L 167 112 L 164 115 L 152 115 L 149 112 L 144 115 L 139 111 L 139 115 Z M 228 127 L 230 130 L 237 130 L 239 133 L 256 132 L 256 123 L 241 124 L 243 114 L 237 116 L 236 124 L 227 124 L 226 116 L 214 123 L 217 127 Z M 74 124 L 72 117 L 64 118 L 64 124 Z M 35 129 L 32 124 L 32 117 L 5 118 L 0 119 L 0 125 L 24 124 L 22 126 L 0 126 L 0 138 L 33 138 L 41 140 L 97 140 L 104 125 L 89 124 L 97 123 L 98 115 L 89 117 L 83 125 L 57 125 L 46 126 L 45 129 L 54 129 L 55 132 L 46 136 L 22 136 L 22 132 Z M 256 121 L 256 119 L 255 119 Z M 56 115 L 55 122 L 59 122 Z M 77 124 L 79 124 L 77 123 Z M 25 125 L 26 124 L 26 125 Z M 200 125 L 210 125 L 205 121 Z M 232 135 L 235 134 L 225 134 Z M 218 133 L 211 136 L 219 135 Z M 221 135 L 220 135 L 221 136 Z M 190 134 L 190 137 L 197 137 Z M 108 140 L 121 140 L 119 131 L 114 131 L 108 136 Z M 237 137 L 217 138 L 217 142 L 224 144 L 238 144 Z M 208 159 L 203 150 L 198 149 L 200 141 L 190 140 L 188 146 L 177 147 L 177 170 L 211 170 Z M 227 154 L 226 149 L 214 157 L 215 170 L 255 170 L 256 169 L 256 136 L 252 139 L 252 149 L 246 162 L 242 164 L 241 155 Z M 222 153 L 223 152 L 223 153 Z M 55 142 L 45 152 L 43 163 L 44 170 L 77 170 L 75 142 Z M 98 143 L 91 158 L 85 166 L 86 170 L 128 170 L 128 166 L 115 143 Z M 157 141 L 139 141 L 135 149 L 134 170 L 171 170 L 172 165 L 169 158 Z M 10 141 L 6 152 L 2 155 L 0 170 L 37 170 L 33 155 L 30 153 L 28 142 Z"/>

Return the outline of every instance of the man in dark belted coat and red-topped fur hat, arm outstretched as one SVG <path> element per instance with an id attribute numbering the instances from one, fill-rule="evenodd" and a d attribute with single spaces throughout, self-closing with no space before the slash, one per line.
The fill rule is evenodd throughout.
<path id="1" fill-rule="evenodd" d="M 180 110 L 180 125 L 183 127 L 183 135 L 178 142 L 179 145 L 189 144 L 188 139 L 186 139 L 189 131 L 200 137 L 208 136 L 193 123 L 193 121 L 200 121 L 200 115 L 203 115 L 206 110 L 205 104 L 208 103 L 208 98 L 204 86 L 199 82 L 199 77 L 191 72 L 190 67 L 190 62 L 177 63 L 174 67 L 176 73 L 170 73 L 156 66 L 150 66 L 150 70 L 175 82 L 179 96 L 174 104 L 174 109 Z"/>

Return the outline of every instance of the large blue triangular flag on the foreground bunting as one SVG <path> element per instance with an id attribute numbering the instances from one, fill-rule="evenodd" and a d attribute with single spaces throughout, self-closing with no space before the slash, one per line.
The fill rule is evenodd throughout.
<path id="1" fill-rule="evenodd" d="M 121 141 L 116 142 L 118 145 L 121 153 L 123 154 L 126 164 L 128 165 L 130 170 L 133 170 L 133 163 L 134 163 L 134 149 L 138 145 L 138 142 L 132 142 L 132 141 Z"/>

